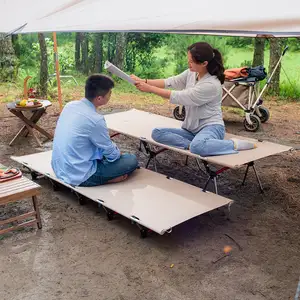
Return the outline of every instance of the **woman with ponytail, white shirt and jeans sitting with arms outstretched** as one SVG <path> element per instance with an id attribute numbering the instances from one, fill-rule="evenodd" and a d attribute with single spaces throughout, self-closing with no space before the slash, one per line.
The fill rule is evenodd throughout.
<path id="1" fill-rule="evenodd" d="M 182 128 L 155 128 L 152 138 L 161 144 L 189 149 L 202 157 L 255 148 L 249 141 L 224 140 L 221 105 L 225 76 L 221 53 L 205 42 L 195 43 L 187 51 L 189 68 L 177 76 L 155 80 L 131 76 L 140 91 L 185 106 Z"/>

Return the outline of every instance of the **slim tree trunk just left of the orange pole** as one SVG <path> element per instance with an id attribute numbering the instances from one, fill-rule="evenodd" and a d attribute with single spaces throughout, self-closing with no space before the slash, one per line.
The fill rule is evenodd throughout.
<path id="1" fill-rule="evenodd" d="M 48 81 L 48 56 L 47 56 L 47 45 L 45 41 L 45 35 L 43 33 L 38 34 L 39 43 L 40 43 L 40 54 L 41 54 L 41 63 L 40 63 L 40 96 L 47 96 L 47 81 Z"/>

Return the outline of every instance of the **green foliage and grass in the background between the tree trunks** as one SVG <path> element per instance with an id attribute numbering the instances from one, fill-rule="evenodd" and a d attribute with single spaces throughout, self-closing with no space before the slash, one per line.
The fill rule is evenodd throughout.
<path id="1" fill-rule="evenodd" d="M 103 33 L 103 62 L 115 55 L 116 33 Z M 58 51 L 61 74 L 70 74 L 80 81 L 81 88 L 84 85 L 86 75 L 75 71 L 75 33 L 59 33 Z M 93 34 L 88 34 L 89 64 L 93 66 L 95 60 L 95 48 Z M 253 59 L 252 38 L 242 37 L 218 37 L 205 35 L 182 34 L 158 34 L 158 33 L 128 33 L 125 54 L 125 71 L 134 73 L 142 78 L 166 78 L 178 74 L 187 68 L 187 47 L 198 41 L 210 43 L 220 50 L 225 68 L 250 66 Z M 292 99 L 300 98 L 298 82 L 300 81 L 300 43 L 298 38 L 281 39 L 282 45 L 289 45 L 289 50 L 282 60 L 283 72 L 281 73 L 281 97 Z M 52 34 L 46 34 L 49 74 L 55 73 L 54 52 Z M 13 41 L 17 51 L 19 64 L 12 65 L 17 73 L 17 85 L 22 87 L 27 75 L 32 76 L 29 87 L 37 87 L 40 69 L 40 49 L 37 34 L 19 35 Z M 269 43 L 265 46 L 265 67 L 269 64 Z M 109 52 L 109 53 L 108 53 Z M 93 70 L 93 68 L 90 68 Z M 18 71 L 18 72 L 17 72 Z M 105 72 L 105 71 L 104 71 Z M 288 77 L 287 77 L 288 76 Z M 135 93 L 136 89 L 120 79 L 116 79 L 116 92 Z M 261 84 L 263 85 L 265 81 Z M 62 79 L 63 90 L 72 92 L 74 81 Z M 49 96 L 56 97 L 56 79 L 49 81 Z M 64 90 L 64 93 L 65 91 Z"/>

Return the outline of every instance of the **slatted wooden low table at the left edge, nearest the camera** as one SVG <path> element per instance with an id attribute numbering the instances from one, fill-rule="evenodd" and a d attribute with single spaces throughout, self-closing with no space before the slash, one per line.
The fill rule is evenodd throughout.
<path id="1" fill-rule="evenodd" d="M 29 219 L 29 221 L 19 223 L 13 227 L 9 227 L 6 229 L 0 230 L 0 234 L 4 234 L 7 232 L 10 232 L 12 230 L 16 230 L 21 227 L 26 227 L 26 226 L 31 226 L 33 224 L 37 224 L 37 227 L 39 229 L 42 228 L 42 222 L 41 222 L 41 217 L 40 217 L 40 210 L 39 210 L 39 205 L 37 201 L 37 195 L 40 193 L 40 185 L 36 184 L 35 182 L 29 180 L 26 177 L 21 177 L 18 179 L 13 179 L 11 181 L 6 181 L 0 183 L 0 205 L 20 201 L 20 200 L 25 200 L 24 198 L 27 197 L 32 197 L 32 202 L 33 202 L 33 210 L 22 214 L 18 215 L 16 217 L 12 217 L 3 221 L 0 221 L 0 226 L 9 224 L 11 222 L 15 221 L 20 221 L 20 220 L 25 220 Z M 32 220 L 32 217 L 34 219 Z"/>

